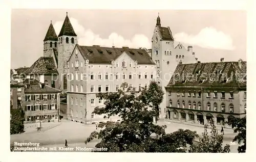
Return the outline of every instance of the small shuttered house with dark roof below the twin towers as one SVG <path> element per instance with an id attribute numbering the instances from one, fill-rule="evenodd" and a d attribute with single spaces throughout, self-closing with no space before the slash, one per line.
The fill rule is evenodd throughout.
<path id="1" fill-rule="evenodd" d="M 61 91 L 36 79 L 26 79 L 24 85 L 25 120 L 57 120 L 59 118 L 59 94 Z"/>

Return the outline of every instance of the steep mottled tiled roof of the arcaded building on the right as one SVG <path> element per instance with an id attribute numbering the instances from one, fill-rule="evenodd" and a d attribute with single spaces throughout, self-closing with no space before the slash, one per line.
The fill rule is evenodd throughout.
<path id="1" fill-rule="evenodd" d="M 179 64 L 167 87 L 246 87 L 246 62 Z"/>

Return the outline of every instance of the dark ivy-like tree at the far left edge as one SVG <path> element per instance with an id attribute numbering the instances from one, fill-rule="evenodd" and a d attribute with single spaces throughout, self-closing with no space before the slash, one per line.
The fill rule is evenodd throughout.
<path id="1" fill-rule="evenodd" d="M 10 133 L 24 132 L 24 112 L 22 109 L 11 109 Z"/>

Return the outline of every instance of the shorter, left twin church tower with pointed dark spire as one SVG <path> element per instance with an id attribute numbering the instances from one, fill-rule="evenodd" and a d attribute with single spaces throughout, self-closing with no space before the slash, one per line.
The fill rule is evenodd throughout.
<path id="1" fill-rule="evenodd" d="M 51 21 L 49 29 L 44 39 L 44 57 L 52 56 L 52 48 L 57 48 L 57 43 L 58 43 L 58 37 L 55 33 L 55 30 L 53 28 L 52 21 Z"/>

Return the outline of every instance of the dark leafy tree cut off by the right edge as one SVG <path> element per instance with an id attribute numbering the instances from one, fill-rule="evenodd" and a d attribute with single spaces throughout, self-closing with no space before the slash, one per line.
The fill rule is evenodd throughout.
<path id="1" fill-rule="evenodd" d="M 234 133 L 237 133 L 237 136 L 234 137 L 233 142 L 238 141 L 238 144 L 240 145 L 243 143 L 242 146 L 238 147 L 238 152 L 243 153 L 246 151 L 246 116 L 243 118 L 230 118 L 230 120 L 227 122 L 228 125 L 231 125 Z"/>

